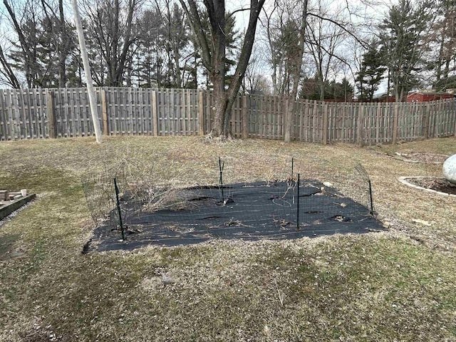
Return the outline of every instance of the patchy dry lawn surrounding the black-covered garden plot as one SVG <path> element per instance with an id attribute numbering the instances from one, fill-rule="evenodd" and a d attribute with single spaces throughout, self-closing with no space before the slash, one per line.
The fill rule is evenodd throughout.
<path id="1" fill-rule="evenodd" d="M 441 175 L 441 165 L 385 155 L 452 155 L 455 138 L 362 148 L 94 140 L 0 144 L 0 187 L 38 197 L 0 227 L 0 341 L 456 341 L 456 197 L 398 182 Z M 316 174 L 361 162 L 375 209 L 392 225 L 363 235 L 81 253 L 94 228 L 85 172 L 140 160 L 162 180 L 202 185 L 217 182 L 219 156 L 239 180 L 284 176 L 291 157 Z"/>

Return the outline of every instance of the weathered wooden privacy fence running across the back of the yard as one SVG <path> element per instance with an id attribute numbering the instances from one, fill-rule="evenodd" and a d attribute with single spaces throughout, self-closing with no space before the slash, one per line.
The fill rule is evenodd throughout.
<path id="1" fill-rule="evenodd" d="M 214 116 L 212 93 L 194 89 L 96 88 L 105 135 L 204 135 Z M 283 139 L 292 107 L 291 138 L 359 145 L 456 135 L 456 101 L 321 103 L 283 96 L 238 95 L 237 138 Z M 94 135 L 86 88 L 0 90 L 0 140 Z"/>

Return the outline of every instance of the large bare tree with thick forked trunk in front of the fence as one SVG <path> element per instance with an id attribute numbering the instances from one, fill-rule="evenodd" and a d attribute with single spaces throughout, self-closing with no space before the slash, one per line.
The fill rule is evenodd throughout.
<path id="1" fill-rule="evenodd" d="M 231 78 L 227 90 L 225 90 L 227 37 L 224 32 L 226 15 L 224 0 L 203 0 L 209 17 L 209 35 L 203 29 L 202 15 L 196 1 L 180 0 L 192 31 L 195 33 L 202 56 L 202 63 L 207 69 L 209 79 L 214 87 L 214 124 L 208 138 L 220 137 L 222 140 L 232 138 L 231 128 L 229 127 L 231 109 L 249 63 L 255 31 L 257 30 L 258 16 L 264 1 L 250 1 L 250 8 L 248 9 L 249 24 L 245 32 L 239 61 L 234 76 Z"/>

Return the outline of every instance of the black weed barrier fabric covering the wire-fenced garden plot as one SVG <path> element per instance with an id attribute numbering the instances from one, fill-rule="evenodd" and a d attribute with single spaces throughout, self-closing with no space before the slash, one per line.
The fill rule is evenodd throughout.
<path id="1" fill-rule="evenodd" d="M 95 229 L 86 245 L 91 250 L 134 249 L 154 244 L 177 246 L 209 239 L 296 239 L 331 234 L 376 232 L 382 224 L 369 210 L 340 192 L 314 180 L 301 180 L 299 228 L 296 224 L 297 189 L 294 182 L 253 182 L 218 187 L 187 188 L 171 209 L 138 211 L 123 201 L 125 241 L 120 229 Z"/>

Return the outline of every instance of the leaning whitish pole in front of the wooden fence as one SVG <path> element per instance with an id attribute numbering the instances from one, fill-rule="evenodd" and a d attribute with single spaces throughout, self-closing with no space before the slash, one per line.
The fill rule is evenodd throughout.
<path id="1" fill-rule="evenodd" d="M 76 22 L 76 31 L 78 32 L 79 47 L 81 48 L 81 57 L 83 58 L 84 73 L 86 74 L 88 100 L 90 102 L 90 111 L 92 112 L 93 129 L 95 138 L 98 143 L 103 141 L 100 130 L 100 121 L 98 120 L 97 103 L 95 98 L 95 89 L 93 88 L 92 74 L 90 73 L 90 64 L 88 63 L 86 39 L 84 38 L 83 24 L 78 10 L 78 0 L 71 0 L 73 4 L 74 20 Z"/>

